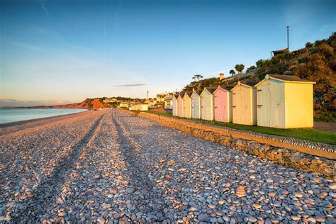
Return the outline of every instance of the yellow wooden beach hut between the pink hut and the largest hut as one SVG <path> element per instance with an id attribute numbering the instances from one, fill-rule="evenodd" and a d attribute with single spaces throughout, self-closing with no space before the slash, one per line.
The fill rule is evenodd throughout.
<path id="1" fill-rule="evenodd" d="M 255 83 L 238 82 L 233 92 L 233 123 L 257 125 L 257 89 Z"/>

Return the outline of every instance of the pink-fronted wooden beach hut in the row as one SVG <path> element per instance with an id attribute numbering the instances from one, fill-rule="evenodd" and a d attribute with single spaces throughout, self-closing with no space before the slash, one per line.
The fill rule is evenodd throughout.
<path id="1" fill-rule="evenodd" d="M 233 121 L 233 95 L 229 89 L 231 86 L 218 86 L 213 92 L 213 102 L 215 106 L 215 121 L 232 122 Z"/>

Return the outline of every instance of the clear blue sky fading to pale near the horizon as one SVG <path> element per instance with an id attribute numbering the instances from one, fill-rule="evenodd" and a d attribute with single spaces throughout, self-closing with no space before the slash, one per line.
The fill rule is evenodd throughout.
<path id="1" fill-rule="evenodd" d="M 3 1 L 0 103 L 181 90 L 328 38 L 336 1 Z"/>

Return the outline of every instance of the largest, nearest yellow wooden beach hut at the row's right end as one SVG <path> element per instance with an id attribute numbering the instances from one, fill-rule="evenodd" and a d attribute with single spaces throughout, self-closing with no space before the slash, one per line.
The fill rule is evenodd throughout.
<path id="1" fill-rule="evenodd" d="M 267 74 L 257 87 L 257 125 L 313 127 L 313 84 L 292 75 Z"/>

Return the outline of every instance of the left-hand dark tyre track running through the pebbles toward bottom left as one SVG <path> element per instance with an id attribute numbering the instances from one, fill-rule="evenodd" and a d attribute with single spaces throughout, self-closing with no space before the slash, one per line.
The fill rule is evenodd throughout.
<path id="1" fill-rule="evenodd" d="M 26 210 L 23 210 L 20 216 L 13 219 L 13 223 L 25 222 L 26 220 L 38 220 L 38 218 L 43 217 L 43 215 L 47 213 L 47 208 L 49 208 L 50 204 L 56 203 L 53 199 L 55 199 L 55 196 L 65 182 L 67 173 L 73 169 L 75 162 L 82 154 L 83 148 L 88 144 L 91 138 L 94 137 L 94 133 L 99 127 L 103 116 L 106 116 L 106 113 L 98 118 L 84 138 L 79 140 L 79 142 L 72 147 L 69 154 L 60 159 L 60 162 L 53 170 L 50 178 L 43 181 L 37 189 L 33 191 L 33 200 L 26 205 Z"/>

